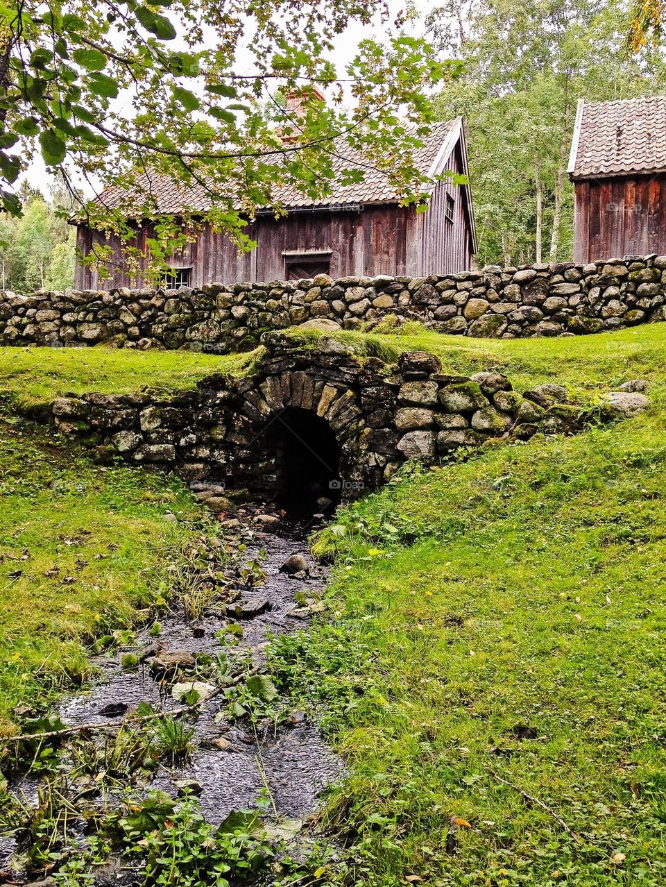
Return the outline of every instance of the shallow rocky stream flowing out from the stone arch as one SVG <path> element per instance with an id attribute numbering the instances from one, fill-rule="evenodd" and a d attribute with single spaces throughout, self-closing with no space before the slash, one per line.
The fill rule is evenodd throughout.
<path id="1" fill-rule="evenodd" d="M 234 526 L 233 537 L 239 545 L 247 545 L 243 557 L 256 559 L 264 574 L 260 584 L 243 591 L 234 601 L 232 606 L 239 606 L 239 616 L 234 617 L 229 610 L 225 613 L 224 606 L 208 608 L 196 622 L 188 621 L 183 611 L 172 613 L 161 620 L 159 637 L 151 637 L 148 628 L 139 634 L 133 652 L 147 651 L 149 655 L 135 671 L 123 670 L 121 660 L 127 648 L 94 657 L 98 679 L 60 706 L 59 717 L 66 726 L 107 724 L 115 716 L 120 727 L 123 718 L 140 703 L 149 703 L 155 710 L 180 709 L 183 703 L 173 698 L 170 685 L 160 680 L 151 666 L 153 653 L 158 657 L 165 653 L 176 657 L 208 654 L 215 659 L 228 649 L 223 629 L 237 623 L 242 626 L 242 635 L 238 635 L 238 645 L 232 650 L 233 659 L 239 661 L 245 655 L 249 668 L 262 671 L 263 651 L 270 635 L 307 626 L 309 614 L 302 600 L 316 600 L 323 592 L 327 570 L 309 558 L 302 526 L 283 522 L 277 532 L 264 532 L 257 530 L 255 508 L 248 507 L 237 516 L 240 523 Z M 305 556 L 307 574 L 298 572 L 294 576 L 282 569 L 294 553 Z M 221 717 L 218 712 L 225 706 L 223 696 L 201 703 L 197 716 L 187 718 L 188 726 L 194 729 L 192 757 L 174 766 L 162 761 L 140 790 L 160 789 L 176 797 L 177 782 L 195 781 L 201 811 L 213 825 L 232 811 L 254 808 L 266 789 L 280 817 L 302 819 L 316 812 L 322 789 L 343 773 L 341 760 L 327 748 L 317 725 L 302 712 L 294 712 L 287 723 L 276 726 L 267 719 L 253 726 L 248 718 Z M 28 775 L 10 788 L 35 803 L 39 784 L 38 778 Z M 20 874 L 12 866 L 15 850 L 12 836 L 3 837 L 0 824 L 0 883 L 20 883 Z"/>

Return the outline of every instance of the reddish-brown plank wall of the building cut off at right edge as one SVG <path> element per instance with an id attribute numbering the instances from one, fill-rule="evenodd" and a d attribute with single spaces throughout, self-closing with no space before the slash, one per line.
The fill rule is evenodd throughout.
<path id="1" fill-rule="evenodd" d="M 666 255 L 666 175 L 574 183 L 574 261 Z"/>

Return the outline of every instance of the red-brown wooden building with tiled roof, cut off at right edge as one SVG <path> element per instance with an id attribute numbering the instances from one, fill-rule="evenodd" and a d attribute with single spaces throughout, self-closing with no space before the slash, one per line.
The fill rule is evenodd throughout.
<path id="1" fill-rule="evenodd" d="M 666 254 L 666 96 L 578 102 L 574 261 Z"/>

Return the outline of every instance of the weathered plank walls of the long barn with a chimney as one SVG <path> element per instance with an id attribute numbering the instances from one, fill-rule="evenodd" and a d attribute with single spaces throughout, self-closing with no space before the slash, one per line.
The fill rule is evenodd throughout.
<path id="1" fill-rule="evenodd" d="M 462 170 L 459 144 L 446 168 Z M 447 194 L 454 200 L 452 221 L 445 217 Z M 239 255 L 227 237 L 212 232 L 207 225 L 184 254 L 174 256 L 170 264 L 176 268 L 192 268 L 192 287 L 212 281 L 284 279 L 287 252 L 330 252 L 333 278 L 378 274 L 421 277 L 468 271 L 472 267 L 468 220 L 464 189 L 447 181 L 436 185 L 425 213 L 386 203 L 294 210 L 280 219 L 261 214 L 247 226 L 247 233 L 258 244 L 249 254 Z M 137 232 L 135 245 L 145 248 L 145 239 L 152 235 L 153 227 L 146 223 Z M 113 247 L 110 276 L 100 279 L 94 266 L 77 263 L 76 287 L 111 289 L 142 283 L 140 276 L 130 279 L 126 273 L 117 238 L 107 241 L 85 226 L 79 226 L 77 245 L 83 255 L 90 255 L 99 243 L 111 243 Z"/>

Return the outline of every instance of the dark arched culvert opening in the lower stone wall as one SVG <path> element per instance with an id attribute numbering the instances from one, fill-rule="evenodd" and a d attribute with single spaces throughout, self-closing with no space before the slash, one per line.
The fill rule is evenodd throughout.
<path id="1" fill-rule="evenodd" d="M 287 514 L 328 513 L 340 503 L 340 449 L 325 419 L 288 407 L 273 419 L 266 443 L 275 457 L 276 504 Z"/>

